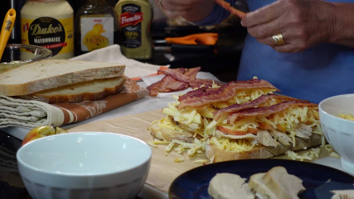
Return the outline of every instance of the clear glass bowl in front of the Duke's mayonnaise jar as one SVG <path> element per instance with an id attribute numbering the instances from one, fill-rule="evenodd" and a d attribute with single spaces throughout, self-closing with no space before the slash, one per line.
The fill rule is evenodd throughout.
<path id="1" fill-rule="evenodd" d="M 25 44 L 7 44 L 0 60 L 0 73 L 23 64 L 47 59 L 52 51 L 41 46 Z"/>

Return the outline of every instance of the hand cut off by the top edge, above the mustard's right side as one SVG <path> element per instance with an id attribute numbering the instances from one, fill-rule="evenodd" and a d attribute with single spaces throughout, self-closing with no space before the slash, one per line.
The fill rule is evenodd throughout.
<path id="1" fill-rule="evenodd" d="M 212 0 L 154 0 L 162 12 L 170 18 L 183 17 L 187 21 L 197 22 L 204 19 L 211 12 Z M 160 4 L 161 3 L 161 4 Z"/>

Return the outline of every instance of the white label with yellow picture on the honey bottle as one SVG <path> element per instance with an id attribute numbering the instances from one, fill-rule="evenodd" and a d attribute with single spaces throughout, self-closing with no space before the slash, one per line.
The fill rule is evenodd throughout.
<path id="1" fill-rule="evenodd" d="M 93 51 L 113 45 L 113 17 L 81 17 L 81 51 Z"/>

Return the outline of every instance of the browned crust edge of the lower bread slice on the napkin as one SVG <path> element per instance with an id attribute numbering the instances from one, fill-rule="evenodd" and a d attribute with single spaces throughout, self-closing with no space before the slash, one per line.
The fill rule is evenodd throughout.
<path id="1" fill-rule="evenodd" d="M 95 101 L 101 100 L 107 96 L 115 95 L 119 93 L 124 88 L 125 83 L 125 76 L 121 76 L 114 79 L 123 79 L 120 81 L 118 85 L 113 87 L 101 87 L 97 90 L 97 92 L 80 92 L 80 83 L 77 85 L 67 85 L 63 86 L 63 90 L 70 89 L 70 90 L 77 90 L 75 94 L 65 94 L 65 93 L 58 93 L 58 94 L 46 94 L 45 92 L 40 92 L 39 94 L 33 93 L 29 95 L 21 95 L 16 96 L 16 98 L 20 99 L 27 99 L 27 100 L 34 100 L 40 101 L 45 103 L 77 103 L 82 101 Z M 108 79 L 107 79 L 108 80 Z M 95 80 L 93 80 L 95 81 Z M 87 82 L 87 84 L 90 84 Z M 58 88 L 61 89 L 61 88 Z"/>

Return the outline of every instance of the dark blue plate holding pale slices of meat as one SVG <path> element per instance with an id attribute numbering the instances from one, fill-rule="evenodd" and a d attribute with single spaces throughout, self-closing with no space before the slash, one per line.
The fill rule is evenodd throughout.
<path id="1" fill-rule="evenodd" d="M 169 197 L 171 199 L 210 199 L 207 191 L 209 181 L 217 173 L 228 172 L 249 179 L 251 175 L 267 172 L 274 166 L 284 166 L 289 174 L 303 180 L 302 184 L 306 191 L 299 194 L 301 199 L 318 198 L 316 196 L 319 196 L 319 194 L 321 194 L 320 198 L 322 199 L 326 195 L 324 193 L 328 193 L 327 197 L 330 198 L 332 194 L 329 193 L 329 190 L 333 190 L 331 186 L 326 186 L 326 189 L 323 188 L 328 180 L 330 180 L 330 184 L 333 183 L 333 187 L 341 183 L 346 185 L 346 189 L 350 187 L 354 189 L 354 177 L 332 167 L 296 160 L 256 159 L 225 161 L 189 170 L 172 182 Z"/>

